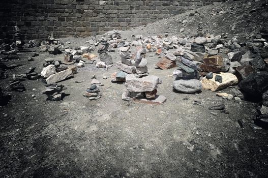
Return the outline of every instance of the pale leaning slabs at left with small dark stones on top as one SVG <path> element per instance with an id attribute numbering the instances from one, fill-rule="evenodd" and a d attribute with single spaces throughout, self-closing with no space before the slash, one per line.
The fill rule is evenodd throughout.
<path id="1" fill-rule="evenodd" d="M 46 66 L 42 72 L 41 76 L 43 81 L 47 84 L 56 83 L 67 78 L 72 77 L 76 72 L 76 66 L 63 66 L 60 61 L 54 61 L 54 59 L 47 58 Z"/>

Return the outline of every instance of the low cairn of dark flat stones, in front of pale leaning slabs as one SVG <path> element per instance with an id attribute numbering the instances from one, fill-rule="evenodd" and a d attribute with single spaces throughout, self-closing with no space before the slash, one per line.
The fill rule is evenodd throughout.
<path id="1" fill-rule="evenodd" d="M 61 101 L 66 96 L 63 92 L 64 85 L 59 85 L 56 83 L 47 84 L 42 94 L 47 96 L 47 100 L 51 101 Z"/>

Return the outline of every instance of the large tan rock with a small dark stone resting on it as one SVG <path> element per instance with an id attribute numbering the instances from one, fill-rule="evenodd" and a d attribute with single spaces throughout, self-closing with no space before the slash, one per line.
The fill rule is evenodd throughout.
<path id="1" fill-rule="evenodd" d="M 222 83 L 215 81 L 216 75 L 222 76 Z M 211 90 L 212 92 L 215 92 L 218 90 L 222 90 L 228 86 L 236 85 L 238 83 L 238 79 L 236 78 L 235 75 L 233 75 L 231 73 L 221 72 L 220 74 L 213 74 L 212 79 L 207 79 L 206 77 L 204 77 L 201 80 L 201 83 L 202 83 L 203 89 Z"/>

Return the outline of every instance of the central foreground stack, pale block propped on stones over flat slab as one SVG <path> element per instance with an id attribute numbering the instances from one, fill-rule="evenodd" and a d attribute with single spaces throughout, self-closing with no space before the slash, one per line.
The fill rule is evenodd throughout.
<path id="1" fill-rule="evenodd" d="M 157 95 L 159 83 L 159 78 L 154 75 L 137 78 L 134 74 L 129 74 L 125 83 L 127 91 L 123 93 L 122 99 L 146 104 L 162 104 L 166 101 L 166 97 Z"/>

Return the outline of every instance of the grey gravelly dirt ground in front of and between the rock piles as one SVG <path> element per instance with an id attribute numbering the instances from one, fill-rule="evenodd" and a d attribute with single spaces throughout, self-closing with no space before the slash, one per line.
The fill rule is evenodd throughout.
<path id="1" fill-rule="evenodd" d="M 148 28 L 122 36 L 130 40 Z M 88 38 L 62 40 L 78 47 Z M 107 71 L 93 64 L 79 68 L 73 78 L 59 82 L 70 94 L 59 102 L 46 101 L 40 80 L 22 81 L 25 92 L 10 91 L 13 74 L 29 67 L 40 73 L 45 58 L 64 59 L 63 54 L 38 53 L 34 62 L 27 61 L 30 52 L 13 56 L 7 64 L 23 66 L 0 80 L 4 93 L 12 95 L 0 107 L 0 177 L 267 177 L 268 132 L 252 127 L 258 103 L 229 101 L 205 90 L 174 92 L 173 69 L 155 69 L 159 58 L 153 52 L 146 54 L 147 67 L 162 80 L 158 94 L 167 97 L 162 105 L 123 101 L 124 83 L 103 79 L 118 71 L 115 65 Z M 109 54 L 114 63 L 120 61 L 118 49 Z M 104 85 L 101 99 L 90 101 L 83 93 L 94 74 Z M 221 103 L 229 114 L 211 114 L 209 107 Z M 237 120 L 243 120 L 244 129 Z"/>

